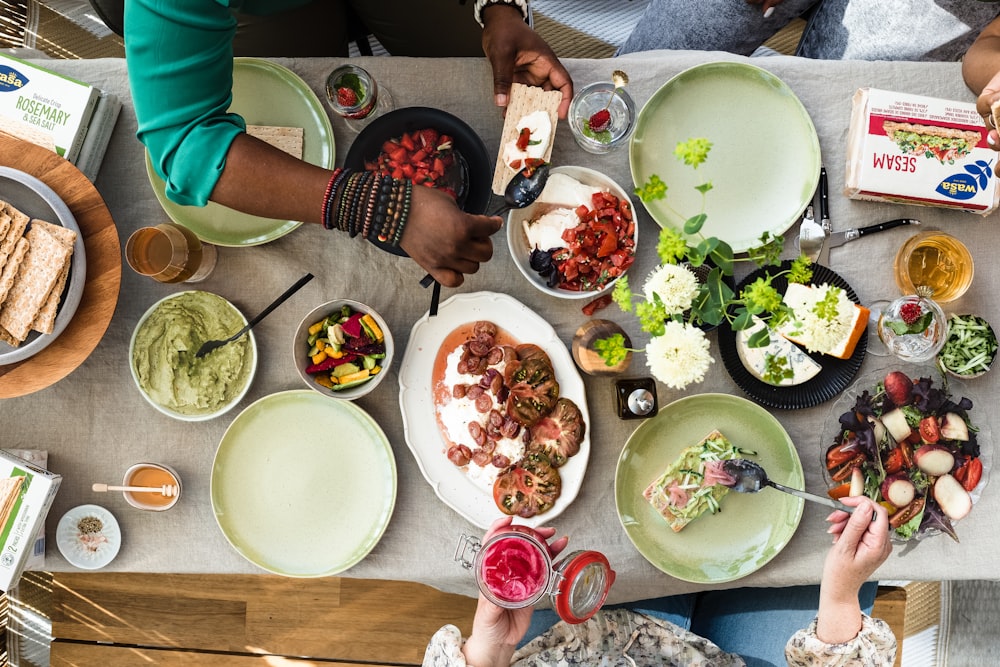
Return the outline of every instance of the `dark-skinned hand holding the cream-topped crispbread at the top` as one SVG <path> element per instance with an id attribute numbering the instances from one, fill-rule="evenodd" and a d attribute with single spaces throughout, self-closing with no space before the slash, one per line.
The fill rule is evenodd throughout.
<path id="1" fill-rule="evenodd" d="M 517 82 L 560 90 L 559 117 L 565 118 L 573 98 L 573 79 L 555 52 L 525 22 L 521 11 L 508 4 L 482 9 L 483 52 L 493 68 L 496 105 L 506 107 L 510 84 Z"/>

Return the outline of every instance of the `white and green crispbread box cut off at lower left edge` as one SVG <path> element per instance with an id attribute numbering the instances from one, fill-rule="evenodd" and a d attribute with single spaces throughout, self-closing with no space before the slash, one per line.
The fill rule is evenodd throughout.
<path id="1" fill-rule="evenodd" d="M 21 577 L 62 477 L 0 450 L 0 590 Z"/>

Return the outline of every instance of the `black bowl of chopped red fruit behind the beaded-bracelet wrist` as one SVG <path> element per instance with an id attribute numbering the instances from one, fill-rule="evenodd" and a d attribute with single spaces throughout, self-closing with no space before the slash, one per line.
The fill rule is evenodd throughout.
<path id="1" fill-rule="evenodd" d="M 442 190 L 467 213 L 485 213 L 490 202 L 493 167 L 486 144 L 465 121 L 440 109 L 405 107 L 376 118 L 351 144 L 344 166 Z"/>

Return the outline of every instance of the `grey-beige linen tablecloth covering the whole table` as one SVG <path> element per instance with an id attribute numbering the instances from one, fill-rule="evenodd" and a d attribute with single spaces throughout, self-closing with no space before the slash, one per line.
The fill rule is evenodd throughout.
<path id="1" fill-rule="evenodd" d="M 618 60 L 569 60 L 566 62 L 578 86 L 607 80 L 613 68 L 628 72 L 629 91 L 642 105 L 674 74 L 712 60 L 740 60 L 722 53 L 653 53 Z M 335 60 L 278 61 L 305 79 L 322 99 L 326 74 Z M 118 93 L 125 101 L 97 187 L 104 196 L 124 245 L 136 228 L 166 218 L 150 189 L 143 165 L 142 147 L 134 137 L 135 116 L 129 102 L 125 64 L 120 60 L 47 61 L 61 72 L 86 79 Z M 499 145 L 502 118 L 492 104 L 492 84 L 485 60 L 414 60 L 371 58 L 364 67 L 388 86 L 397 106 L 422 105 L 444 108 L 465 119 L 483 137 L 491 153 Z M 976 261 L 972 289 L 951 309 L 973 311 L 997 319 L 1000 272 L 992 264 L 996 216 L 974 215 L 940 209 L 857 202 L 841 193 L 850 111 L 850 98 L 861 86 L 972 100 L 962 83 L 958 64 L 818 62 L 790 57 L 759 58 L 753 64 L 770 70 L 800 97 L 819 133 L 823 161 L 830 176 L 830 211 L 835 230 L 874 224 L 897 217 L 916 217 L 924 228 L 939 227 L 966 242 Z M 753 132 L 756 119 L 746 117 L 739 100 L 732 100 L 728 122 Z M 275 101 L 280 104 L 280 100 Z M 334 120 L 338 163 L 350 145 L 350 135 L 339 119 Z M 672 147 L 665 147 L 671 150 Z M 596 168 L 631 187 L 628 153 L 621 150 L 606 157 L 591 156 L 575 145 L 565 124 L 557 132 L 555 164 Z M 248 193 L 250 196 L 250 193 Z M 655 263 L 655 223 L 639 213 L 639 257 L 632 273 L 644 276 Z M 786 256 L 793 256 L 793 227 L 786 241 Z M 906 231 L 896 230 L 834 250 L 832 267 L 855 288 L 863 302 L 892 298 L 897 289 L 892 279 L 892 258 Z M 345 279 L 334 266 L 366 267 Z M 260 367 L 256 381 L 240 408 L 262 396 L 301 388 L 290 359 L 291 338 L 299 319 L 315 305 L 335 297 L 351 297 L 377 308 L 388 320 L 399 350 L 405 349 L 413 323 L 426 311 L 429 291 L 418 286 L 423 276 L 409 260 L 396 260 L 362 243 L 346 242 L 337 233 L 306 225 L 266 245 L 222 248 L 211 277 L 199 285 L 232 300 L 244 312 L 263 308 L 303 273 L 317 279 L 257 329 Z M 62 382 L 35 394 L 0 402 L 4 447 L 44 448 L 51 467 L 64 475 L 64 482 L 48 522 L 49 545 L 46 567 L 72 569 L 56 549 L 54 528 L 58 518 L 81 503 L 109 507 L 122 525 L 123 545 L 117 559 L 106 569 L 133 572 L 261 572 L 244 560 L 226 542 L 216 525 L 209 497 L 210 472 L 216 445 L 236 412 L 214 421 L 181 423 L 154 411 L 145 403 L 129 375 L 126 350 L 129 336 L 142 313 L 155 300 L 185 289 L 161 285 L 130 270 L 123 272 L 118 309 L 110 328 L 90 358 Z M 493 261 L 470 276 L 460 291 L 507 292 L 543 314 L 568 345 L 586 317 L 579 302 L 560 301 L 536 291 L 512 265 L 501 234 L 495 239 Z M 445 290 L 448 296 L 449 291 Z M 645 341 L 634 318 L 611 307 L 601 316 L 620 321 L 636 341 Z M 713 345 L 716 345 L 712 336 Z M 717 350 L 717 347 L 714 348 Z M 886 360 L 869 356 L 861 374 Z M 398 368 L 395 369 L 398 371 Z M 640 357 L 632 374 L 645 374 Z M 452 562 L 454 546 L 463 532 L 478 533 L 435 496 L 423 479 L 403 438 L 398 403 L 397 373 L 359 405 L 388 434 L 399 470 L 395 512 L 382 540 L 361 563 L 344 574 L 424 582 L 437 588 L 472 594 L 471 576 Z M 975 380 L 969 387 L 978 400 L 977 419 L 994 433 L 1000 432 L 993 406 L 1000 396 L 1000 375 Z M 623 422 L 612 410 L 613 381 L 585 377 L 592 416 L 591 455 L 583 488 L 576 501 L 555 522 L 561 533 L 571 536 L 575 548 L 604 552 L 618 572 L 612 601 L 627 601 L 701 588 L 664 575 L 633 547 L 619 523 L 614 501 L 614 474 L 618 454 L 637 425 Z M 741 395 L 741 390 L 715 363 L 705 382 L 685 392 L 659 386 L 659 400 L 666 405 L 682 396 L 701 392 Z M 825 483 L 819 466 L 820 434 L 828 428 L 830 403 L 796 411 L 775 411 L 794 442 L 806 472 L 807 489 L 823 493 Z M 983 442 L 992 449 L 992 442 Z M 124 469 L 137 461 L 153 460 L 175 466 L 184 480 L 184 497 L 166 513 L 142 512 L 128 507 L 116 494 L 91 492 L 93 482 L 116 482 Z M 882 579 L 955 579 L 996 577 L 995 554 L 1000 537 L 994 517 L 1000 500 L 993 485 L 972 515 L 960 524 L 961 544 L 947 537 L 926 540 L 915 547 L 897 548 L 877 576 Z M 794 537 L 769 564 L 730 585 L 783 586 L 819 581 L 824 554 L 830 544 L 826 523 L 828 510 L 807 503 Z"/>

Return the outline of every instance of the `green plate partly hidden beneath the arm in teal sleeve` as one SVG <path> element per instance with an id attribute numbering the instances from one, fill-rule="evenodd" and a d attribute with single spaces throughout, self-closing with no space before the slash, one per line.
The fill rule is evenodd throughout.
<path id="1" fill-rule="evenodd" d="M 333 127 L 326 109 L 297 74 L 267 60 L 236 58 L 233 62 L 233 103 L 229 110 L 250 125 L 301 127 L 302 159 L 332 169 L 336 158 Z M 170 219 L 184 225 L 202 241 L 221 246 L 267 243 L 292 231 L 301 222 L 247 215 L 209 202 L 183 206 L 167 199 L 166 184 L 146 154 L 146 173 L 153 192 Z"/>

